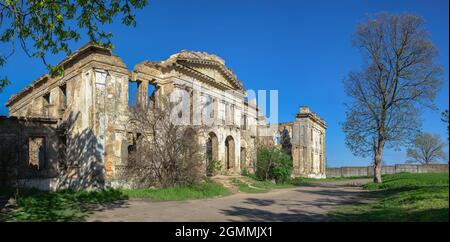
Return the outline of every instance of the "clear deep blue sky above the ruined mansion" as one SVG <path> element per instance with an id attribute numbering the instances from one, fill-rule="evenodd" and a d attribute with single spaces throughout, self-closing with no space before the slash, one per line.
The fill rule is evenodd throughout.
<path id="1" fill-rule="evenodd" d="M 440 51 L 444 85 L 436 103 L 448 107 L 448 0 L 153 0 L 137 13 L 136 28 L 106 26 L 114 33 L 114 52 L 130 69 L 143 60 L 163 60 L 182 49 L 206 51 L 225 59 L 247 89 L 279 90 L 279 121 L 291 121 L 301 105 L 308 105 L 327 124 L 329 166 L 368 165 L 370 158 L 354 157 L 345 147 L 339 123 L 344 121 L 346 97 L 342 80 L 362 59 L 352 47 L 356 25 L 380 11 L 421 15 Z M 86 38 L 84 38 L 84 41 Z M 84 41 L 73 43 L 76 50 Z M 50 56 L 56 64 L 62 55 Z M 21 51 L 0 69 L 12 84 L 0 93 L 5 103 L 44 73 L 38 59 Z M 0 115 L 6 115 L 2 105 Z M 423 129 L 446 140 L 440 113 L 425 110 Z M 386 151 L 388 164 L 403 163 L 405 151 Z"/>

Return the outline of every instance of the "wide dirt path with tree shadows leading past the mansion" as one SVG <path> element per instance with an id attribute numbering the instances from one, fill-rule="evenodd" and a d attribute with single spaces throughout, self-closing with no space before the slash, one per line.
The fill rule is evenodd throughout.
<path id="1" fill-rule="evenodd" d="M 327 212 L 362 202 L 368 180 L 318 182 L 268 193 L 152 202 L 128 200 L 119 208 L 95 212 L 88 221 L 327 221 Z"/>

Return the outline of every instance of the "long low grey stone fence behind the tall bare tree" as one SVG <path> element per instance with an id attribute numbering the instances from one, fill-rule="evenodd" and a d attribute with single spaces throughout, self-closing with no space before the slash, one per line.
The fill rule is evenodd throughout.
<path id="1" fill-rule="evenodd" d="M 428 173 L 447 172 L 448 164 L 432 165 L 408 165 L 398 164 L 393 166 L 382 166 L 382 174 L 395 174 L 399 172 Z M 350 176 L 373 176 L 373 166 L 348 166 L 326 169 L 327 177 L 350 177 Z"/>

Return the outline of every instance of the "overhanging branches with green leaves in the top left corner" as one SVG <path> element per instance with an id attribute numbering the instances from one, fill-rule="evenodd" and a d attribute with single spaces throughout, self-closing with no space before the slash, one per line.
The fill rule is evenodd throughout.
<path id="1" fill-rule="evenodd" d="M 45 57 L 48 52 L 70 54 L 69 43 L 81 38 L 86 31 L 89 39 L 102 46 L 112 47 L 112 33 L 101 30 L 120 15 L 122 24 L 135 26 L 135 9 L 142 9 L 147 0 L 0 0 L 0 67 L 18 44 L 29 57 L 40 58 L 53 75 L 62 67 L 52 67 Z M 0 92 L 8 84 L 0 80 Z"/>

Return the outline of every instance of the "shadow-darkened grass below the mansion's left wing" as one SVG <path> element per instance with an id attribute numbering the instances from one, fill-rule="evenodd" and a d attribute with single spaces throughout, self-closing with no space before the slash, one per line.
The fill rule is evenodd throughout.
<path id="1" fill-rule="evenodd" d="M 83 221 L 95 206 L 119 200 L 116 190 L 46 192 L 36 189 L 1 189 L 1 195 L 16 197 L 17 208 L 0 213 L 0 221 Z"/>

